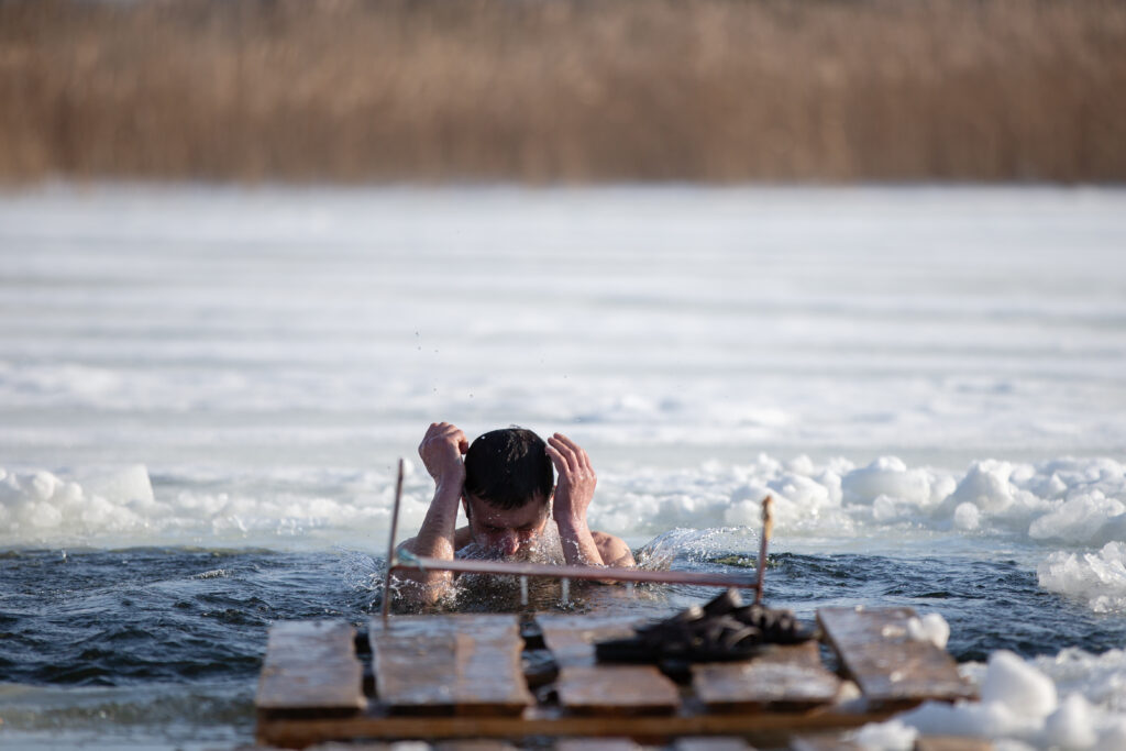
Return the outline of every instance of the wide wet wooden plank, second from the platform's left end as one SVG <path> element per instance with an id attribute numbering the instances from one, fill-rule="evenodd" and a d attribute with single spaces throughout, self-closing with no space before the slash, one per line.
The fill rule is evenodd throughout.
<path id="1" fill-rule="evenodd" d="M 513 615 L 373 619 L 376 692 L 396 714 L 517 715 L 533 704 Z"/>

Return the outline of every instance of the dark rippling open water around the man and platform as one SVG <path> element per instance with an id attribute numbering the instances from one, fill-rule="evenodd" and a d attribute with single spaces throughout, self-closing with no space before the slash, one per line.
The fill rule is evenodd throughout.
<path id="1" fill-rule="evenodd" d="M 770 604 L 806 618 L 824 605 L 937 611 L 950 624 L 949 650 L 959 661 L 984 660 L 997 649 L 1033 656 L 1126 643 L 1126 616 L 1099 616 L 1047 593 L 1034 572 L 1012 561 L 781 553 L 770 562 Z M 673 567 L 736 571 L 742 564 L 735 556 L 681 554 Z M 375 558 L 347 551 L 0 554 L 0 689 L 8 685 L 0 690 L 0 741 L 12 731 L 55 733 L 96 719 L 117 731 L 155 724 L 187 737 L 221 727 L 220 740 L 249 741 L 269 625 L 341 618 L 363 626 L 378 610 L 377 572 Z M 656 617 L 715 591 L 573 585 L 568 607 Z M 555 583 L 534 593 L 540 608 L 562 607 L 558 594 Z M 468 609 L 517 605 L 503 587 L 462 599 Z M 96 690 L 101 687 L 135 690 Z"/>

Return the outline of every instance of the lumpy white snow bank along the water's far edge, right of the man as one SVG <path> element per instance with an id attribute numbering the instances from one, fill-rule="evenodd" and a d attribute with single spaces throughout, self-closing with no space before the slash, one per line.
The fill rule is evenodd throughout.
<path id="1" fill-rule="evenodd" d="M 910 467 L 893 456 L 857 466 L 837 458 L 781 462 L 765 454 L 745 465 L 705 463 L 695 471 L 607 473 L 593 526 L 622 535 L 672 527 L 760 524 L 760 501 L 775 499 L 776 535 L 788 544 L 991 537 L 1031 546 L 1102 545 L 1052 553 L 1040 584 L 1097 610 L 1126 609 L 1126 465 L 1110 458 L 1036 464 L 984 459 L 963 474 Z"/>

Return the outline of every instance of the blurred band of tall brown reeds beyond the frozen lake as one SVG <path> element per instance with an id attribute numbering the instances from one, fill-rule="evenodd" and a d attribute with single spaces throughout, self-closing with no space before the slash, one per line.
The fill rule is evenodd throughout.
<path id="1" fill-rule="evenodd" d="M 0 0 L 0 180 L 1126 178 L 1120 0 Z"/>

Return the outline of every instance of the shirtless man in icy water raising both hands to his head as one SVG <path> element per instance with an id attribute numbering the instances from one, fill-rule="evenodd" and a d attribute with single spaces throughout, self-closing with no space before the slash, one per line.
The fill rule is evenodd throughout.
<path id="1" fill-rule="evenodd" d="M 506 428 L 477 437 L 471 446 L 456 426 L 435 422 L 419 445 L 419 456 L 437 486 L 418 536 L 400 549 L 450 561 L 475 544 L 490 557 L 519 560 L 539 542 L 552 516 L 569 564 L 634 565 L 622 539 L 587 526 L 598 477 L 587 452 L 566 436 L 555 433 L 544 444 L 530 430 Z M 558 472 L 554 493 L 552 465 Z M 470 522 L 461 529 L 458 502 Z M 437 600 L 453 581 L 448 571 L 404 570 L 395 575 L 421 584 L 412 589 L 422 601 Z"/>

